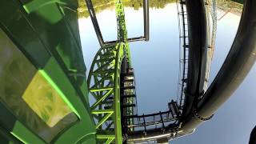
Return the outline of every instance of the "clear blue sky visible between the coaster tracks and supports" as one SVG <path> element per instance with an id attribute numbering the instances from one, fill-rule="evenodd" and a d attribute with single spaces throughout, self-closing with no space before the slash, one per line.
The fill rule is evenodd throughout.
<path id="1" fill-rule="evenodd" d="M 143 34 L 142 8 L 126 7 L 128 37 Z M 132 66 L 135 70 L 138 114 L 167 110 L 167 102 L 176 99 L 178 88 L 179 34 L 176 3 L 163 8 L 150 8 L 150 42 L 131 42 Z M 98 22 L 105 41 L 117 39 L 114 7 L 101 10 Z M 218 20 L 210 82 L 218 73 L 230 50 L 238 29 L 240 16 L 226 14 Z M 90 18 L 81 18 L 79 28 L 87 73 L 99 49 Z M 174 144 L 241 144 L 248 143 L 250 131 L 256 125 L 254 66 L 246 80 L 209 122 L 199 126 L 194 134 L 174 140 Z"/>

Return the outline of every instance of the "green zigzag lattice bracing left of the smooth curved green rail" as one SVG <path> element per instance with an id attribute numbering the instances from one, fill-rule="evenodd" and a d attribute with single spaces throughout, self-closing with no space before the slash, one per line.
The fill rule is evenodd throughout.
<path id="1" fill-rule="evenodd" d="M 94 62 L 92 63 L 92 66 L 90 67 L 90 73 L 88 77 L 88 86 L 90 90 L 90 94 L 93 95 L 93 98 L 95 98 L 96 102 L 90 106 L 91 114 L 96 115 L 94 118 L 96 118 L 96 128 L 98 129 L 98 133 L 100 131 L 105 130 L 104 127 L 107 127 L 109 131 L 108 133 L 114 134 L 114 113 L 116 113 L 117 110 L 113 110 L 114 106 L 111 104 L 106 104 L 106 99 L 113 97 L 116 98 L 118 96 L 114 95 L 115 91 L 115 83 L 114 83 L 114 75 L 115 75 L 115 63 L 116 63 L 116 57 L 117 53 L 116 50 L 119 50 L 118 48 L 120 46 L 111 46 L 111 49 L 105 49 L 104 47 L 100 50 L 98 50 L 98 53 L 96 54 L 94 58 Z M 111 55 L 114 58 L 102 58 L 105 55 Z M 108 107 L 106 107 L 108 106 Z M 120 110 L 119 110 L 120 111 Z M 105 115 L 104 115 L 105 114 Z M 106 122 L 110 123 L 110 126 L 103 126 L 106 125 Z M 112 131 L 112 132 L 111 132 Z M 97 139 L 106 139 L 105 143 L 110 143 L 114 140 L 114 135 L 102 135 L 97 134 Z M 102 142 L 102 141 L 100 141 Z"/>

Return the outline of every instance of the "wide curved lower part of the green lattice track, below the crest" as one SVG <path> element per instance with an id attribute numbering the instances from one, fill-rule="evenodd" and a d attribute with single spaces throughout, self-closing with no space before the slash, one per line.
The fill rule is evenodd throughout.
<path id="1" fill-rule="evenodd" d="M 124 42 L 113 45 L 112 49 L 109 50 L 103 47 L 98 50 L 90 67 L 88 86 L 92 98 L 95 99 L 90 109 L 96 121 L 98 134 L 102 130 L 114 134 L 114 138 L 108 137 L 108 135 L 97 137 L 98 139 L 106 139 L 105 143 L 113 141 L 122 143 L 120 71 L 122 59 L 126 56 L 126 48 Z M 114 54 L 114 58 L 102 59 L 102 56 L 107 54 Z"/>

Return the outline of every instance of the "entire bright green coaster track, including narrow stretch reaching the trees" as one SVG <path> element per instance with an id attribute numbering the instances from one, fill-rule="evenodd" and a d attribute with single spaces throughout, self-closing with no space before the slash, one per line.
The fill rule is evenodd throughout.
<path id="1" fill-rule="evenodd" d="M 122 143 L 120 110 L 120 73 L 122 59 L 130 64 L 130 49 L 126 42 L 127 31 L 122 0 L 114 2 L 118 23 L 118 42 L 98 50 L 90 67 L 88 86 L 95 102 L 90 110 L 96 119 L 98 142 Z M 107 102 L 113 98 L 113 101 Z"/>

